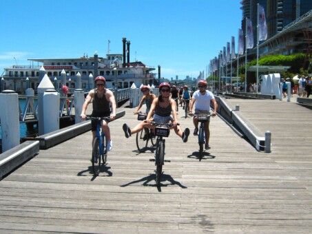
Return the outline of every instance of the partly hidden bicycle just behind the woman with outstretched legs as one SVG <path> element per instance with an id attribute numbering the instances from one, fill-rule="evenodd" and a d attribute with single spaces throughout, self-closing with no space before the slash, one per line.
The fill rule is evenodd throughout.
<path id="1" fill-rule="evenodd" d="M 145 120 L 147 114 L 143 112 L 138 113 L 138 120 Z M 143 127 L 141 131 L 136 133 L 136 147 L 138 147 L 139 152 L 145 152 L 145 148 L 147 147 L 148 141 L 151 141 L 152 145 L 155 146 L 156 142 L 155 136 L 153 134 L 153 129 L 148 129 L 147 127 Z"/>

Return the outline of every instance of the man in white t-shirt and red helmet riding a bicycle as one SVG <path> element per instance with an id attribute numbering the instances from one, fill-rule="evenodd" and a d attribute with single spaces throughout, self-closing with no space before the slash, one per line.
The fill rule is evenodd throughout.
<path id="1" fill-rule="evenodd" d="M 207 89 L 207 81 L 198 81 L 198 90 L 194 92 L 191 103 L 189 104 L 189 115 L 193 115 L 193 105 L 195 103 L 195 113 L 194 114 L 209 114 L 210 113 L 210 102 L 214 105 L 214 111 L 211 112 L 211 116 L 216 116 L 216 111 L 218 108 L 218 104 L 216 102 L 216 99 L 214 98 L 214 94 L 212 94 Z M 198 120 L 196 117 L 193 118 L 194 123 L 194 136 L 198 133 Z M 209 120 L 205 122 L 205 149 L 210 149 L 209 147 Z"/>

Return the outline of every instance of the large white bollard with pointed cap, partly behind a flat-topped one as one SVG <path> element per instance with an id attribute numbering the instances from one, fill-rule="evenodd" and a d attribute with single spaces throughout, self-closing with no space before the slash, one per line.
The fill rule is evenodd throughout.
<path id="1" fill-rule="evenodd" d="M 42 81 L 38 85 L 38 131 L 39 131 L 39 136 L 44 134 L 44 121 L 45 119 L 43 118 L 43 94 L 46 90 L 48 89 L 54 89 L 54 86 L 52 82 L 50 81 L 50 78 L 47 74 L 43 76 Z M 59 114 L 59 109 L 57 111 Z"/>

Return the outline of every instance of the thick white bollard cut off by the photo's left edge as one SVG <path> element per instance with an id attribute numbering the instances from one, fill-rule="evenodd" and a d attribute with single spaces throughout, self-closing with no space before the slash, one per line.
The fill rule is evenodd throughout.
<path id="1" fill-rule="evenodd" d="M 0 109 L 2 152 L 4 152 L 20 143 L 19 95 L 13 90 L 4 90 L 0 94 Z"/>

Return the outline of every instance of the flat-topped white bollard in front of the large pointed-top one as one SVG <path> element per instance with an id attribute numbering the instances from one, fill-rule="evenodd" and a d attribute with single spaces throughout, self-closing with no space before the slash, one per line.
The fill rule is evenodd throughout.
<path id="1" fill-rule="evenodd" d="M 55 89 L 45 90 L 43 93 L 43 134 L 59 130 L 60 94 Z"/>

